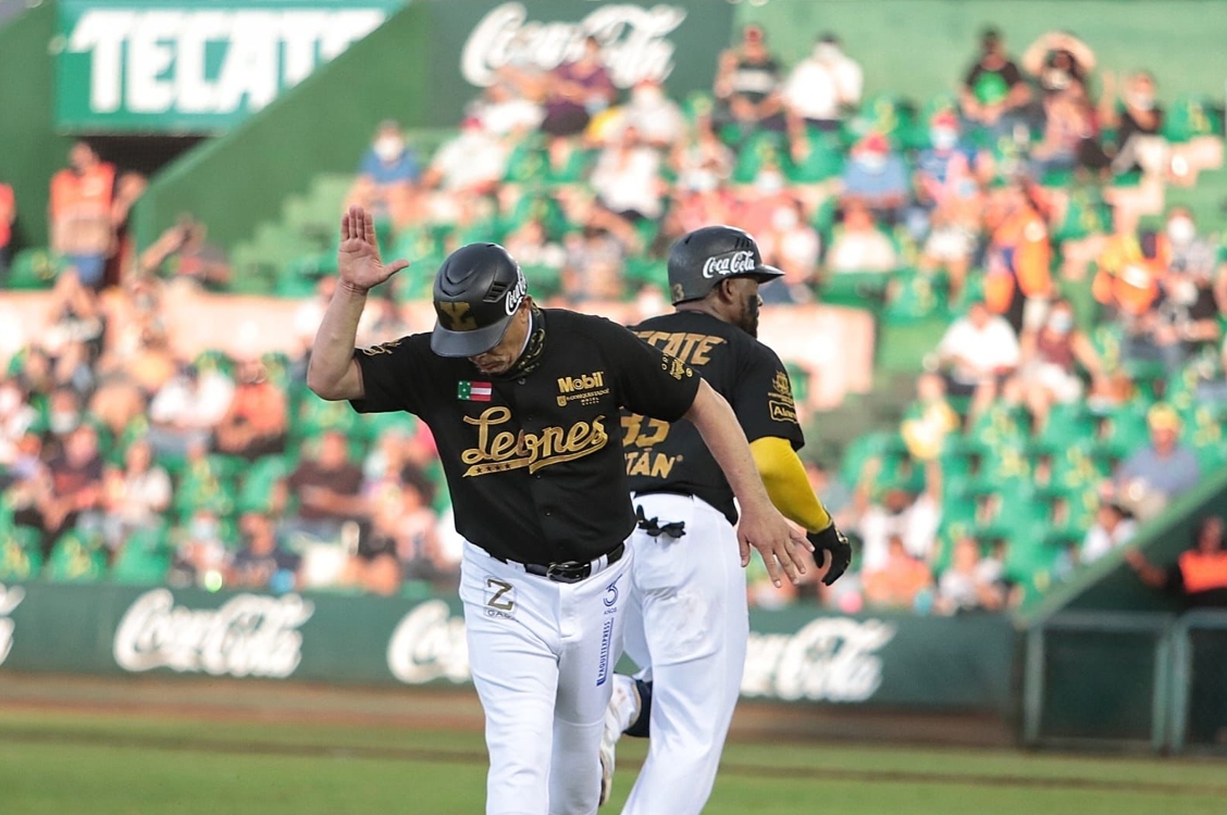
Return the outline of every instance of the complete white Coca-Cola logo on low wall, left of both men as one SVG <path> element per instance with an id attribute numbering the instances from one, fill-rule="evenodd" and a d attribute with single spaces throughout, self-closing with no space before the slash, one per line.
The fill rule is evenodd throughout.
<path id="1" fill-rule="evenodd" d="M 216 609 L 174 604 L 156 588 L 136 598 L 115 630 L 112 651 L 124 670 L 169 668 L 215 677 L 285 679 L 302 662 L 298 626 L 315 605 L 297 594 L 238 594 Z"/>

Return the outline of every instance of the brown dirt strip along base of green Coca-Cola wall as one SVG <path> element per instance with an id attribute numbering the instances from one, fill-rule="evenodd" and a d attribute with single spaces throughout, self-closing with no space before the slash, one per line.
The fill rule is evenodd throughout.
<path id="1" fill-rule="evenodd" d="M 470 686 L 369 688 L 196 677 L 80 677 L 0 672 L 0 708 L 383 726 L 480 732 Z M 839 740 L 1007 746 L 993 717 L 870 712 L 806 703 L 742 701 L 730 740 Z"/>

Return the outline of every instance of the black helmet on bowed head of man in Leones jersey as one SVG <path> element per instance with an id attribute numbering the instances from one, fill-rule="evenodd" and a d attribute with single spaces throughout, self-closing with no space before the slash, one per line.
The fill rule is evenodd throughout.
<path id="1" fill-rule="evenodd" d="M 431 349 L 440 357 L 477 357 L 502 341 L 528 283 L 519 263 L 498 244 L 455 250 L 434 276 Z"/>

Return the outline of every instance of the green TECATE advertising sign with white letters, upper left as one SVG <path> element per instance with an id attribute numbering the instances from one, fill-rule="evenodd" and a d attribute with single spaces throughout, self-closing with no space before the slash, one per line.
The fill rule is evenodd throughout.
<path id="1" fill-rule="evenodd" d="M 55 124 L 221 132 L 378 28 L 406 0 L 61 0 Z"/>

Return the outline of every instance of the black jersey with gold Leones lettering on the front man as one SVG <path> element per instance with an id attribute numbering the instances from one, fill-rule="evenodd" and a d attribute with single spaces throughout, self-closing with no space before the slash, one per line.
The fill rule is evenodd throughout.
<path id="1" fill-rule="evenodd" d="M 503 377 L 439 357 L 418 333 L 356 353 L 360 413 L 409 411 L 434 434 L 456 531 L 507 560 L 594 560 L 634 528 L 617 429 L 627 408 L 671 422 L 699 376 L 602 317 L 533 311 Z"/>

